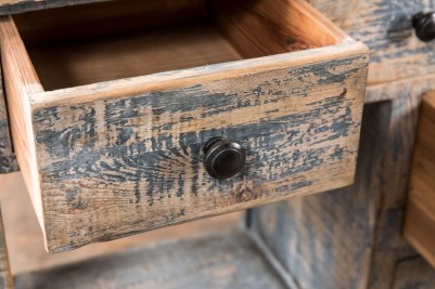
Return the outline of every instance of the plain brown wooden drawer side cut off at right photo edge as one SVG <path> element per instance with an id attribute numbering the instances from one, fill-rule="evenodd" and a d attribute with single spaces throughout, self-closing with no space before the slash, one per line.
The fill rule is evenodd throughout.
<path id="1" fill-rule="evenodd" d="M 423 96 L 404 228 L 405 237 L 435 267 L 435 93 Z"/>

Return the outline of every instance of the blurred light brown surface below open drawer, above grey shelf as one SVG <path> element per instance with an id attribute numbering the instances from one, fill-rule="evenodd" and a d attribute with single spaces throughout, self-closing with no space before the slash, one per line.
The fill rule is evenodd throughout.
<path id="1" fill-rule="evenodd" d="M 126 249 L 174 238 L 189 238 L 199 233 L 220 232 L 240 225 L 244 212 L 234 212 L 202 221 L 180 224 L 162 229 L 99 242 L 62 254 L 48 254 L 43 236 L 31 206 L 21 173 L 0 176 L 0 196 L 4 227 L 7 228 L 8 252 L 12 275 L 47 270 Z"/>

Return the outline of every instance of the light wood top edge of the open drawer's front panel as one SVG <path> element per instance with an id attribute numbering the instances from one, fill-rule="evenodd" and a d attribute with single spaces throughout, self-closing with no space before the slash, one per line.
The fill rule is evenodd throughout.
<path id="1" fill-rule="evenodd" d="M 298 67 L 320 63 L 325 60 L 340 60 L 353 55 L 368 54 L 369 49 L 362 42 L 350 42 L 328 48 L 39 92 L 29 95 L 29 97 L 31 108 L 40 109 L 50 106 L 73 105 L 120 96 L 139 95 L 153 91 L 197 84 L 199 82 L 217 81 L 259 71 Z"/>

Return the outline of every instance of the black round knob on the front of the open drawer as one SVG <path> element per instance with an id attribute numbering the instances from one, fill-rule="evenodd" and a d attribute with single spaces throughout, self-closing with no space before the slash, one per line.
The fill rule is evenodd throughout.
<path id="1" fill-rule="evenodd" d="M 232 140 L 213 137 L 204 146 L 204 167 L 209 175 L 218 180 L 238 174 L 245 165 L 245 150 Z"/>

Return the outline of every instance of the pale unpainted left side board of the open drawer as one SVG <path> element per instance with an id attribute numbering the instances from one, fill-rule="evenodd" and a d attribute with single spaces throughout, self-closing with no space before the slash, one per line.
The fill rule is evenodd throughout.
<path id="1" fill-rule="evenodd" d="M 15 154 L 29 189 L 38 220 L 43 227 L 40 180 L 31 121 L 29 95 L 42 92 L 42 86 L 11 16 L 0 17 L 0 50 L 4 91 Z"/>

